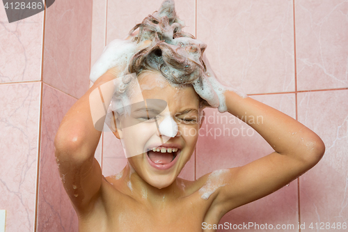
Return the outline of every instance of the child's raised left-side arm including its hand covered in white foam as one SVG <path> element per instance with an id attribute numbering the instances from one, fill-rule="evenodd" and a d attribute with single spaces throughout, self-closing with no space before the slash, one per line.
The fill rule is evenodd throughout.
<path id="1" fill-rule="evenodd" d="M 102 134 L 106 110 L 113 94 L 122 94 L 131 82 L 129 76 L 122 79 L 116 77 L 125 73 L 127 62 L 136 52 L 151 44 L 151 40 L 139 43 L 131 40 L 132 36 L 128 40 L 113 40 L 106 46 L 100 59 L 93 65 L 91 76 L 96 79 L 100 72 L 105 73 L 95 80 L 95 84 L 68 111 L 54 140 L 56 160 L 65 191 L 80 213 L 89 212 L 100 196 L 102 170 L 94 153 Z M 114 68 L 105 70 L 107 67 Z M 113 126 L 116 127 L 111 125 Z M 117 130 L 114 134 L 118 137 Z"/>

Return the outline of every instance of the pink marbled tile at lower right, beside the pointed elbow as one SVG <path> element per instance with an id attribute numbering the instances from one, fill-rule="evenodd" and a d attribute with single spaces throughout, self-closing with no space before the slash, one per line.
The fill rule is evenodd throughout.
<path id="1" fill-rule="evenodd" d="M 301 176 L 301 224 L 348 224 L 348 89 L 299 93 L 299 121 L 326 145 L 317 166 Z M 319 227 L 322 226 L 323 227 Z M 301 231 L 313 231 L 306 228 Z M 329 231 L 329 230 L 328 230 Z M 335 231 L 331 228 L 331 231 Z"/>

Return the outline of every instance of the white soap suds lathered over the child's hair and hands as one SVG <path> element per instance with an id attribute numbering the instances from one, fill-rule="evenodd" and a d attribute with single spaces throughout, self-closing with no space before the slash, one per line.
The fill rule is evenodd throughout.
<path id="1" fill-rule="evenodd" d="M 174 1 L 164 1 L 158 11 L 129 31 L 129 39 L 113 40 L 104 48 L 100 59 L 91 68 L 90 80 L 95 82 L 115 66 L 120 70 L 120 76 L 159 70 L 169 83 L 191 84 L 208 105 L 218 107 L 220 112 L 227 111 L 225 91 L 234 91 L 243 98 L 246 95 L 218 82 L 203 56 L 207 45 L 182 31 L 183 27 L 184 22 L 176 15 Z"/>

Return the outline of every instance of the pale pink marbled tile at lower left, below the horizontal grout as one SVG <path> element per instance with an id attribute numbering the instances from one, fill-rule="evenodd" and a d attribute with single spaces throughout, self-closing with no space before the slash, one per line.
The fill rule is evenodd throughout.
<path id="1" fill-rule="evenodd" d="M 6 232 L 33 231 L 41 84 L 0 84 L 0 208 Z"/>

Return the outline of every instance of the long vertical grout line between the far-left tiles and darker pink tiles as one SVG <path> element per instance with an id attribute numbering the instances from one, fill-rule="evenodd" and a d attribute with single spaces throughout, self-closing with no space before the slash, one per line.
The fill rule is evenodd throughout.
<path id="1" fill-rule="evenodd" d="M 39 196 L 39 176 L 40 176 L 40 151 L 41 151 L 41 121 L 42 121 L 42 102 L 43 102 L 43 63 L 44 63 L 44 51 L 45 51 L 45 26 L 46 26 L 46 1 L 45 10 L 43 12 L 43 22 L 42 22 L 42 53 L 41 53 L 41 78 L 40 78 L 40 108 L 39 108 L 39 127 L 38 127 L 38 155 L 36 156 L 38 161 L 36 163 L 36 186 L 35 186 L 35 209 L 34 209 L 34 225 L 33 231 L 37 231 L 38 226 L 38 196 Z"/>

